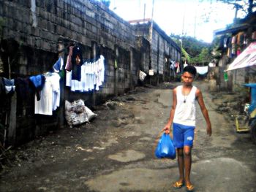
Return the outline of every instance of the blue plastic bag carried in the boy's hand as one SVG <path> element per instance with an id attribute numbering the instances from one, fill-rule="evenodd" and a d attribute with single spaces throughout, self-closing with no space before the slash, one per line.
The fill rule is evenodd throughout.
<path id="1" fill-rule="evenodd" d="M 169 134 L 162 134 L 154 154 L 157 158 L 176 158 L 176 149 Z"/>

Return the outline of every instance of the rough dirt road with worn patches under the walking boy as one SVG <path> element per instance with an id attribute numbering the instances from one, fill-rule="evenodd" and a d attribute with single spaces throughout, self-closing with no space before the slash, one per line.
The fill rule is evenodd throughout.
<path id="1" fill-rule="evenodd" d="M 256 191 L 256 145 L 216 112 L 207 84 L 196 85 L 203 90 L 213 135 L 206 135 L 197 106 L 191 175 L 195 191 Z M 16 166 L 1 172 L 0 191 L 186 191 L 171 186 L 178 179 L 176 160 L 153 155 L 171 96 L 171 89 L 138 88 L 98 107 L 90 124 L 23 145 L 13 151 Z"/>

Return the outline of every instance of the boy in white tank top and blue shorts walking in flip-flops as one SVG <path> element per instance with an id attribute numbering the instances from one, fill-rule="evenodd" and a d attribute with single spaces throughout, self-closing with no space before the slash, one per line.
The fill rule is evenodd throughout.
<path id="1" fill-rule="evenodd" d="M 173 125 L 173 145 L 177 149 L 179 180 L 173 183 L 174 188 L 186 185 L 187 191 L 193 191 L 194 185 L 190 181 L 192 164 L 192 146 L 195 131 L 195 101 L 198 102 L 203 117 L 206 119 L 207 134 L 211 136 L 211 121 L 208 111 L 203 102 L 201 91 L 192 85 L 197 74 L 195 66 L 186 66 L 181 75 L 183 85 L 173 89 L 173 106 L 170 110 L 170 118 L 163 129 L 166 134 L 170 133 Z"/>

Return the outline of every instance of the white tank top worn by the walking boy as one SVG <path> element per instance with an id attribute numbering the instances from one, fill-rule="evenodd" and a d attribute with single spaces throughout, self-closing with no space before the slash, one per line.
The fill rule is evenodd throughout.
<path id="1" fill-rule="evenodd" d="M 197 88 L 193 86 L 189 95 L 184 96 L 182 87 L 183 85 L 179 85 L 176 88 L 177 105 L 173 123 L 178 123 L 184 126 L 195 126 L 195 92 L 197 91 Z"/>

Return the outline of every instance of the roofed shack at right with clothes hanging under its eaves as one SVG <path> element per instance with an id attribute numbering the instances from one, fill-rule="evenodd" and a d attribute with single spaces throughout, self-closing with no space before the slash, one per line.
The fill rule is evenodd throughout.
<path id="1" fill-rule="evenodd" d="M 234 91 L 237 87 L 248 82 L 255 82 L 255 66 L 236 69 L 227 72 L 228 80 L 225 79 L 225 70 L 238 55 L 240 55 L 251 42 L 256 41 L 256 13 L 244 19 L 237 20 L 229 28 L 214 31 L 220 38 L 218 50 L 222 53 L 218 61 L 217 86 L 220 89 Z"/>

